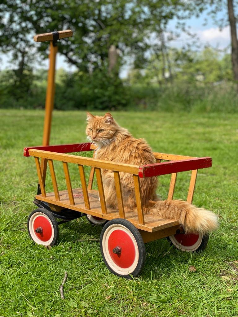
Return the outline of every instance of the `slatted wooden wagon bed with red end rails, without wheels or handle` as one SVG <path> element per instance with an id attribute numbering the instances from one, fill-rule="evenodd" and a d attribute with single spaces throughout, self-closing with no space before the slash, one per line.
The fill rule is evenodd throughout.
<path id="1" fill-rule="evenodd" d="M 179 229 L 179 223 L 175 220 L 162 219 L 158 216 L 144 214 L 140 190 L 140 178 L 171 174 L 168 199 L 173 199 L 177 173 L 182 171 L 191 171 L 187 197 L 187 201 L 191 203 L 195 189 L 197 170 L 210 167 L 212 165 L 212 159 L 209 157 L 194 158 L 157 152 L 154 152 L 156 159 L 155 164 L 142 166 L 108 162 L 100 159 L 65 154 L 70 152 L 91 151 L 94 149 L 95 146 L 90 143 L 25 148 L 24 156 L 33 156 L 36 162 L 41 190 L 40 194 L 36 196 L 36 199 L 47 202 L 50 205 L 50 208 L 55 211 L 60 211 L 66 208 L 107 220 L 115 218 L 126 219 L 140 230 L 144 242 L 149 242 L 164 236 L 175 234 Z M 39 158 L 41 158 L 41 161 Z M 67 185 L 67 190 L 65 191 L 58 191 L 53 165 L 53 161 L 55 160 L 63 163 L 63 170 Z M 161 162 L 161 160 L 167 162 Z M 51 180 L 54 188 L 54 192 L 51 193 L 46 193 L 44 184 L 47 163 L 49 164 Z M 72 189 L 68 168 L 69 163 L 78 165 L 82 188 Z M 84 165 L 91 166 L 88 184 L 86 183 Z M 106 206 L 101 173 L 101 169 L 105 168 L 113 171 L 114 173 L 118 210 L 113 210 L 112 208 Z M 124 211 L 120 172 L 130 173 L 133 175 L 137 212 Z M 98 191 L 92 189 L 94 174 L 96 174 Z M 100 197 L 100 201 L 98 197 Z"/>

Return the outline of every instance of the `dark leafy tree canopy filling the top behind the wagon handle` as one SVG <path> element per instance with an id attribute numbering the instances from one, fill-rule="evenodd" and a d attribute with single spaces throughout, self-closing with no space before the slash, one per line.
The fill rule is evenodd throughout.
<path id="1" fill-rule="evenodd" d="M 151 47 L 148 38 L 161 33 L 179 12 L 194 13 L 196 5 L 187 0 L 3 0 L 0 4 L 1 50 L 13 51 L 21 59 L 35 57 L 34 48 L 46 57 L 48 43 L 34 44 L 35 33 L 72 29 L 74 36 L 59 43 L 59 52 L 82 71 L 111 66 L 118 69 L 121 55 L 134 56 L 143 63 Z M 182 17 L 181 17 L 182 18 Z M 163 54 L 165 55 L 165 46 Z M 109 61 L 111 56 L 111 61 Z M 116 62 L 112 62 L 112 59 Z M 20 67 L 19 67 L 20 69 Z M 116 71 L 116 74 L 118 72 Z"/>

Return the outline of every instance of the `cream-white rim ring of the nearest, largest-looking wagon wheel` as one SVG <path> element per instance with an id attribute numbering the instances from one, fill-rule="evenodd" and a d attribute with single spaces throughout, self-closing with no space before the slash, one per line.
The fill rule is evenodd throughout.
<path id="1" fill-rule="evenodd" d="M 108 246 L 109 245 L 109 238 L 111 237 L 112 233 L 115 230 L 121 230 L 122 232 L 124 232 L 126 234 L 126 236 L 128 235 L 128 239 L 131 239 L 131 242 L 133 243 L 134 248 L 135 248 L 135 250 L 132 251 L 132 252 L 135 251 L 135 259 L 133 260 L 133 263 L 127 268 L 122 268 L 119 265 L 117 265 L 110 255 L 109 246 Z M 104 257 L 105 257 L 107 264 L 117 274 L 128 275 L 128 274 L 132 273 L 137 267 L 137 264 L 139 261 L 139 249 L 138 249 L 136 239 L 133 236 L 133 234 L 131 233 L 131 231 L 121 224 L 112 224 L 111 226 L 109 226 L 105 230 L 103 237 L 102 237 L 102 251 L 103 251 L 103 254 L 104 254 Z M 122 248 L 122 252 L 123 252 L 123 248 Z"/>

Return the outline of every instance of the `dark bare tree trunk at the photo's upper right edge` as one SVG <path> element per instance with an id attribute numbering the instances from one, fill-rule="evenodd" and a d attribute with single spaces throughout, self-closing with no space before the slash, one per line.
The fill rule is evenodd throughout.
<path id="1" fill-rule="evenodd" d="M 230 23 L 230 30 L 231 30 L 231 60 L 232 60 L 232 68 L 234 73 L 234 80 L 238 85 L 238 41 L 237 41 L 237 34 L 236 34 L 236 21 L 234 15 L 234 8 L 233 8 L 233 0 L 227 0 L 228 5 L 228 16 L 229 16 L 229 23 Z M 237 86 L 238 90 L 238 86 Z"/>

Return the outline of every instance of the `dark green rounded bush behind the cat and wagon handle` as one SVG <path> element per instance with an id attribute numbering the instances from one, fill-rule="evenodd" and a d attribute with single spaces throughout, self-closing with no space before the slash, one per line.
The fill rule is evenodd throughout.
<path id="1" fill-rule="evenodd" d="M 92 74 L 64 73 L 56 86 L 57 109 L 121 109 L 130 99 L 126 87 L 117 76 L 106 70 Z"/>

